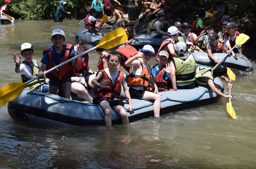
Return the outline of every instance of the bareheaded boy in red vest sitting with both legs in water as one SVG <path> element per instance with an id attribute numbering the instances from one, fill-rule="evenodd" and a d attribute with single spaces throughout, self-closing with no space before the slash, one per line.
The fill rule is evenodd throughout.
<path id="1" fill-rule="evenodd" d="M 108 68 L 100 70 L 96 77 L 92 79 L 92 84 L 99 88 L 96 95 L 94 96 L 93 103 L 99 104 L 100 107 L 105 112 L 105 124 L 111 126 L 111 114 L 112 108 L 120 115 L 123 124 L 129 124 L 129 119 L 127 113 L 124 110 L 124 103 L 120 96 L 122 91 L 122 86 L 124 88 L 124 93 L 128 99 L 128 109 L 133 111 L 132 100 L 130 93 L 125 85 L 124 72 L 116 69 L 120 62 L 120 56 L 117 52 L 110 52 L 108 54 Z M 98 80 L 102 79 L 99 83 Z M 111 106 L 111 107 L 110 107 Z"/>

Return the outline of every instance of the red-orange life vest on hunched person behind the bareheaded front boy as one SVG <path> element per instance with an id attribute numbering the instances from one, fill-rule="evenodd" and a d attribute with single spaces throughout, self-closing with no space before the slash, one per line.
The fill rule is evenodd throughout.
<path id="1" fill-rule="evenodd" d="M 130 59 L 132 56 L 136 55 L 138 51 L 133 48 L 131 45 L 125 45 L 121 48 L 116 49 L 116 52 L 120 53 L 120 65 L 127 71 L 129 67 L 125 66 L 125 62 Z"/>

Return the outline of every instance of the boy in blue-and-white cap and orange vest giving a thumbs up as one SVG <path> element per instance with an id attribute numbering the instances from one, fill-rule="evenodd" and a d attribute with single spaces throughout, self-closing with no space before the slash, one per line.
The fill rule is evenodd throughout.
<path id="1" fill-rule="evenodd" d="M 154 100 L 154 116 L 160 117 L 160 105 L 162 93 L 158 92 L 158 88 L 151 77 L 148 61 L 155 54 L 155 50 L 150 45 L 145 45 L 138 54 L 132 56 L 125 62 L 125 66 L 131 67 L 129 71 L 129 80 L 127 85 L 130 87 L 129 92 L 133 99 Z M 155 88 L 155 92 L 146 91 L 148 83 Z"/>

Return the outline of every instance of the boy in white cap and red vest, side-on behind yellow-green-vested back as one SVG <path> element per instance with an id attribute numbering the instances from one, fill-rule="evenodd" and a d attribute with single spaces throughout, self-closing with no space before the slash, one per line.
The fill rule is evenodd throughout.
<path id="1" fill-rule="evenodd" d="M 167 33 L 169 35 L 169 39 L 165 39 L 163 41 L 163 43 L 161 44 L 158 50 L 158 53 L 162 50 L 167 51 L 169 54 L 169 60 L 170 60 L 171 57 L 178 57 L 178 55 L 176 55 L 174 50 L 174 44 L 175 44 L 175 40 L 178 39 L 179 37 L 179 33 L 181 32 L 178 30 L 176 26 L 171 26 L 168 28 Z M 157 60 L 158 53 L 156 55 L 156 60 Z"/>

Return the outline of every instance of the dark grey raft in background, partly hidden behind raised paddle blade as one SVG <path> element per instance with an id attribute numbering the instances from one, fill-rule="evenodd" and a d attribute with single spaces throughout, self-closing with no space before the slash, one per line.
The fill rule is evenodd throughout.
<path id="1" fill-rule="evenodd" d="M 92 42 L 102 38 L 102 36 L 93 35 L 87 30 L 81 30 L 76 35 L 79 37 L 82 33 L 88 34 L 92 38 Z M 153 48 L 158 49 L 163 41 L 164 39 L 150 38 L 149 35 L 136 34 L 135 39 L 132 40 L 130 45 L 137 50 L 141 49 L 144 45 L 151 45 Z"/>

